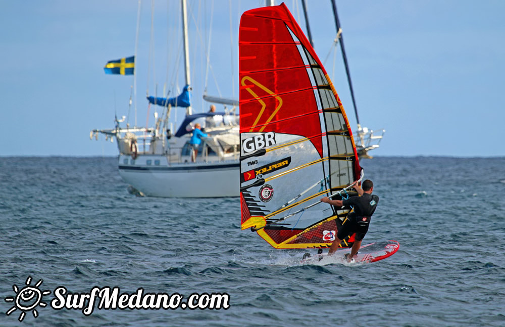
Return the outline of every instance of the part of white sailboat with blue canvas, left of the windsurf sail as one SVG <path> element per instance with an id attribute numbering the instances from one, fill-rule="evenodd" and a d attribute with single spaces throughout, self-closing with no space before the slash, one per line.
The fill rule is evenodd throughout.
<path id="1" fill-rule="evenodd" d="M 140 12 L 140 2 L 139 2 Z M 237 197 L 239 171 L 238 115 L 232 99 L 206 96 L 233 108 L 222 112 L 192 112 L 187 5 L 181 0 L 185 86 L 173 98 L 147 96 L 150 104 L 164 108 L 161 116 L 155 113 L 153 127 L 121 127 L 125 116 L 116 117 L 115 128 L 93 129 L 90 138 L 106 135 L 106 140 L 117 141 L 119 174 L 137 195 L 153 197 Z M 138 27 L 137 27 L 138 31 Z M 184 107 L 186 115 L 177 128 L 169 121 L 172 108 Z M 194 126 L 205 127 L 207 137 L 194 151 L 190 136 Z"/>

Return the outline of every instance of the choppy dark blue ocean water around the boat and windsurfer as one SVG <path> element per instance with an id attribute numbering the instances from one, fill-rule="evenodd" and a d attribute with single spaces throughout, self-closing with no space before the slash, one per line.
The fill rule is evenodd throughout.
<path id="1" fill-rule="evenodd" d="M 400 248 L 372 264 L 319 266 L 241 231 L 238 198 L 136 197 L 116 158 L 2 157 L 0 325 L 505 326 L 505 158 L 361 165 L 380 197 L 363 244 Z M 13 302 L 27 282 L 51 291 L 35 308 Z M 226 293 L 229 307 L 85 315 L 51 306 L 60 286 Z"/>

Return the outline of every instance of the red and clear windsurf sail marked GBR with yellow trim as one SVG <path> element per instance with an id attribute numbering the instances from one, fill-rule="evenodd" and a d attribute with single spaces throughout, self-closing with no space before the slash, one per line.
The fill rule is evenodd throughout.
<path id="1" fill-rule="evenodd" d="M 329 247 L 351 208 L 319 200 L 353 195 L 362 169 L 342 103 L 284 4 L 242 15 L 239 82 L 241 228 L 275 248 Z"/>

